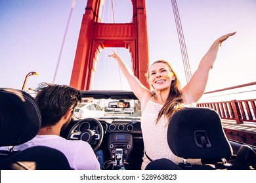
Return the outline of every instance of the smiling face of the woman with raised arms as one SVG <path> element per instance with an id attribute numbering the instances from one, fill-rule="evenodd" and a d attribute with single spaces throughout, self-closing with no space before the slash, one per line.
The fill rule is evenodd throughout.
<path id="1" fill-rule="evenodd" d="M 149 69 L 149 82 L 155 90 L 163 90 L 171 86 L 175 76 L 165 63 L 154 63 Z"/>

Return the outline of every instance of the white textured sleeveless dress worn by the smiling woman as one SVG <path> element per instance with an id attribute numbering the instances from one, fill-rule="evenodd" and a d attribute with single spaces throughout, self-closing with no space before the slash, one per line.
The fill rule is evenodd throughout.
<path id="1" fill-rule="evenodd" d="M 175 156 L 175 154 L 171 152 L 167 143 L 167 120 L 165 120 L 164 116 L 161 116 L 160 120 L 156 124 L 156 118 L 158 118 L 158 113 L 162 107 L 163 105 L 154 103 L 150 99 L 142 112 L 140 122 L 144 141 L 144 150 L 150 159 L 167 158 L 178 164 L 182 162 L 182 158 Z M 146 165 L 150 163 L 150 160 L 146 158 L 145 154 L 142 159 L 143 162 L 141 169 L 143 170 Z M 200 164 L 201 159 L 188 159 L 188 162 L 192 164 Z"/>

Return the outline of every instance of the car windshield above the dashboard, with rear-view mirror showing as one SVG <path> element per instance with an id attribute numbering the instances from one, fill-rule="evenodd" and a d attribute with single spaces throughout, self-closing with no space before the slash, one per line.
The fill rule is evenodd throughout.
<path id="1" fill-rule="evenodd" d="M 123 98 L 117 97 L 117 99 L 110 99 L 106 96 L 104 99 L 83 96 L 81 103 L 75 107 L 74 116 L 78 120 L 85 118 L 140 119 L 140 101 L 129 97 L 125 98 L 125 95 Z"/>

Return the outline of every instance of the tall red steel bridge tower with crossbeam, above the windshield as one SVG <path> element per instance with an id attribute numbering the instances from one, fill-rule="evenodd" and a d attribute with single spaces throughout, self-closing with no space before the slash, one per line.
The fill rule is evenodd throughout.
<path id="1" fill-rule="evenodd" d="M 131 0 L 133 21 L 127 24 L 100 23 L 103 0 L 88 0 L 81 23 L 70 86 L 91 90 L 96 61 L 106 47 L 129 49 L 133 72 L 148 87 L 145 73 L 148 68 L 148 35 L 145 0 Z"/>

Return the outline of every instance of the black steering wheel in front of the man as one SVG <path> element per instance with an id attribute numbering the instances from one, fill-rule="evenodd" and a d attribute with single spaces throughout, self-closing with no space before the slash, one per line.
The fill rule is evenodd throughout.
<path id="1" fill-rule="evenodd" d="M 79 126 L 85 122 L 87 122 L 88 124 L 95 123 L 96 125 L 98 125 L 97 131 L 92 129 L 79 130 Z M 70 129 L 70 132 L 68 133 L 68 140 L 82 140 L 88 142 L 93 148 L 93 151 L 95 152 L 96 150 L 98 150 L 98 147 L 102 142 L 103 136 L 104 130 L 100 122 L 98 120 L 95 120 L 94 118 L 85 118 L 77 122 L 72 127 L 72 129 Z"/>

